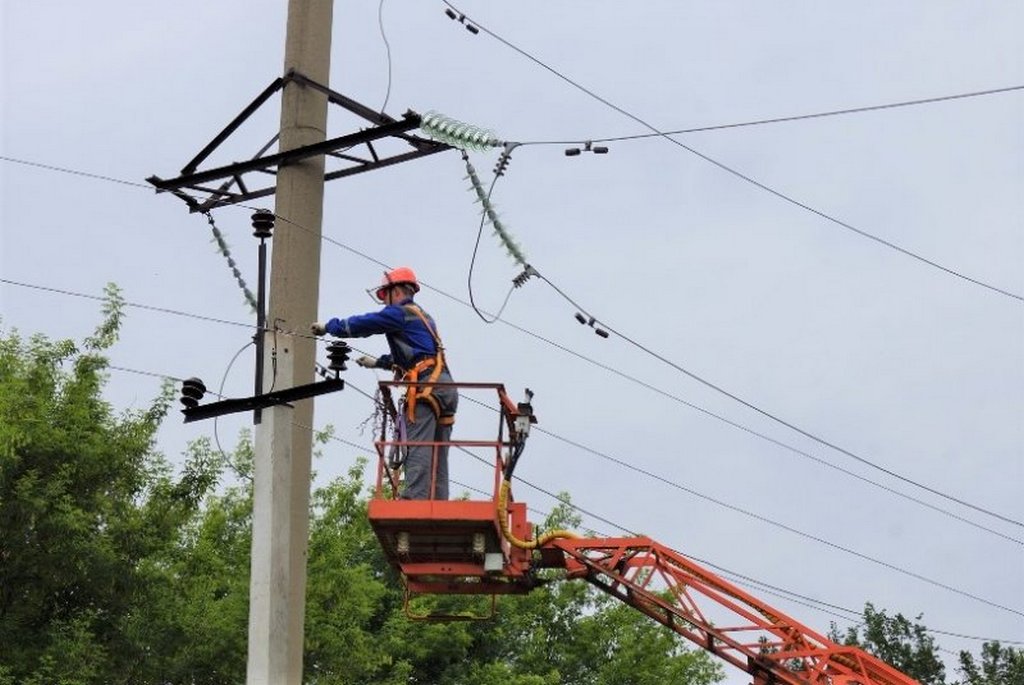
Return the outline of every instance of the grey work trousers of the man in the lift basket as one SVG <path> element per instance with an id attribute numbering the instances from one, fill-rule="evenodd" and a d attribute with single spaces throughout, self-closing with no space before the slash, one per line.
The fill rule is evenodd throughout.
<path id="1" fill-rule="evenodd" d="M 451 383 L 452 377 L 442 373 L 440 383 Z M 437 398 L 441 412 L 455 415 L 459 406 L 459 392 L 456 388 L 433 388 L 431 394 Z M 430 404 L 420 399 L 416 402 L 415 420 L 407 423 L 406 439 L 410 442 L 447 442 L 452 439 L 452 425 L 441 425 L 434 416 Z M 402 500 L 446 500 L 449 445 L 410 445 L 406 455 L 406 487 Z M 437 469 L 433 497 L 430 497 L 430 478 L 436 454 Z"/>

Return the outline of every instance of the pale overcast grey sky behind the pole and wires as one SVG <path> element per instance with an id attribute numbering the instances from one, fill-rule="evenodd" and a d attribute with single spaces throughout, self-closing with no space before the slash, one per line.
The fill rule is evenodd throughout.
<path id="1" fill-rule="evenodd" d="M 133 182 L 170 177 L 280 75 L 285 5 L 264 0 L 80 3 L 2 0 L 3 156 Z M 951 95 L 1024 84 L 1018 3 L 562 0 L 460 7 L 505 39 L 663 129 Z M 387 111 L 437 110 L 506 140 L 646 133 L 636 122 L 451 22 L 441 2 L 389 0 Z M 388 62 L 378 2 L 335 6 L 331 85 L 371 108 Z M 278 125 L 271 100 L 215 163 L 253 154 Z M 1024 91 L 680 136 L 702 154 L 857 228 L 972 279 L 956 279 L 744 183 L 664 139 L 567 158 L 516 151 L 495 200 L 531 263 L 617 331 L 856 455 L 937 490 L 1024 520 Z M 329 135 L 355 123 L 335 113 Z M 496 154 L 474 155 L 489 180 Z M 466 299 L 477 206 L 458 154 L 330 183 L 324 232 Z M 5 160 L 2 277 L 233 322 L 251 315 L 206 221 L 178 200 Z M 257 202 L 270 206 L 269 199 Z M 255 288 L 249 210 L 215 213 Z M 380 267 L 323 246 L 322 317 L 372 308 Z M 488 234 L 477 302 L 497 308 L 516 268 Z M 81 338 L 94 301 L 0 284 L 5 332 Z M 505 317 L 659 392 L 588 363 L 430 290 L 460 380 L 529 386 L 541 425 L 734 509 L 535 434 L 518 475 L 684 553 L 858 610 L 865 601 L 929 627 L 1024 640 L 1024 527 L 914 489 L 767 420 L 612 337 L 578 325 L 540 281 Z M 112 362 L 216 388 L 245 328 L 132 308 Z M 383 351 L 383 341 L 359 347 Z M 248 394 L 251 354 L 225 393 Z M 371 389 L 374 374 L 348 373 Z M 142 406 L 155 378 L 112 372 L 116 406 Z M 677 399 L 666 397 L 664 393 Z M 695 404 L 788 445 L 773 444 Z M 316 424 L 368 444 L 355 392 L 317 400 Z M 233 442 L 244 418 L 220 423 Z M 464 402 L 457 436 L 494 417 Z M 171 418 L 178 459 L 209 424 Z M 992 530 L 864 483 L 806 453 Z M 316 468 L 358 451 L 332 443 Z M 361 453 L 366 454 L 366 453 Z M 488 471 L 454 457 L 454 477 Z M 456 488 L 458 490 L 458 488 Z M 553 501 L 525 485 L 517 499 Z M 616 533 L 590 517 L 588 527 Z M 815 542 L 976 595 L 971 599 Z M 761 594 L 755 591 L 755 594 Z M 837 619 L 767 597 L 821 631 Z M 1002 605 L 1004 609 L 990 603 Z M 848 625 L 840 620 L 841 626 Z M 937 636 L 948 649 L 977 642 Z M 951 662 L 951 661 L 950 661 Z"/>

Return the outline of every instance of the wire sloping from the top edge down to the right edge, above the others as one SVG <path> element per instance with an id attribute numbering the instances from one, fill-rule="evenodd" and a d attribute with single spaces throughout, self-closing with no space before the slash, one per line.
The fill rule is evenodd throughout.
<path id="1" fill-rule="evenodd" d="M 447 5 L 449 7 L 451 7 L 452 9 L 454 9 L 455 11 L 459 12 L 460 14 L 464 14 L 464 12 L 462 12 L 462 10 L 460 10 L 458 7 L 456 7 L 455 5 L 453 5 L 447 0 L 442 0 L 442 2 L 444 2 L 445 5 Z M 469 17 L 467 16 L 467 18 L 469 18 Z M 818 216 L 818 217 L 820 217 L 822 219 L 825 219 L 826 221 L 829 221 L 829 222 L 831 222 L 831 223 L 834 223 L 834 224 L 836 224 L 836 225 L 838 225 L 838 226 L 840 226 L 842 228 L 846 228 L 847 230 L 850 230 L 850 231 L 852 231 L 854 233 L 857 233 L 858 236 L 860 236 L 862 238 L 866 238 L 868 240 L 874 241 L 876 243 L 879 243 L 880 245 L 883 245 L 883 246 L 888 247 L 888 248 L 890 248 L 892 250 L 895 250 L 896 252 L 899 252 L 899 253 L 901 253 L 901 254 L 903 254 L 903 255 L 905 255 L 907 257 L 910 257 L 911 259 L 915 259 L 915 260 L 924 263 L 924 264 L 927 264 L 927 265 L 932 266 L 932 267 L 934 267 L 936 269 L 944 271 L 944 272 L 946 272 L 946 273 L 948 273 L 948 274 L 950 274 L 952 276 L 955 276 L 957 279 L 961 279 L 961 280 L 963 280 L 963 281 L 965 281 L 967 283 L 972 283 L 972 284 L 974 284 L 976 286 L 980 286 L 982 288 L 985 288 L 985 289 L 987 289 L 989 291 L 992 291 L 994 293 L 997 293 L 999 295 L 1005 295 L 1007 297 L 1013 298 L 1015 300 L 1018 300 L 1018 301 L 1024 303 L 1024 296 L 1022 296 L 1022 295 L 1010 292 L 1008 290 L 1004 290 L 1004 289 L 998 288 L 996 286 L 992 286 L 992 285 L 990 285 L 988 283 L 985 283 L 983 281 L 979 281 L 978 279 L 971 277 L 971 276 L 969 276 L 969 275 L 967 275 L 965 273 L 956 271 L 955 269 L 949 268 L 947 266 L 943 266 L 942 264 L 939 264 L 936 261 L 933 261 L 931 259 L 928 259 L 927 257 L 919 255 L 915 252 L 911 252 L 910 250 L 907 250 L 906 248 L 902 248 L 902 247 L 896 245 L 895 243 L 891 243 L 890 241 L 887 241 L 884 238 L 880 238 L 878 236 L 874 236 L 873 233 L 867 232 L 866 230 L 857 228 L 856 226 L 854 226 L 854 225 L 852 225 L 850 223 L 847 223 L 846 221 L 843 221 L 843 220 L 838 219 L 838 218 L 836 218 L 836 217 L 834 217 L 834 216 L 831 216 L 829 214 L 826 214 L 825 212 L 823 212 L 821 210 L 815 209 L 814 207 L 811 207 L 810 205 L 808 205 L 808 204 L 806 204 L 804 202 L 801 202 L 801 201 L 797 200 L 796 198 L 794 198 L 794 197 L 792 197 L 790 195 L 786 195 L 786 194 L 784 194 L 784 192 L 782 192 L 780 190 L 776 190 L 775 188 L 773 188 L 773 187 L 771 187 L 771 186 L 769 186 L 769 185 L 767 185 L 765 183 L 762 183 L 761 181 L 755 179 L 754 177 L 749 176 L 749 175 L 746 175 L 746 174 L 738 171 L 737 169 L 734 169 L 734 168 L 732 168 L 732 167 L 730 167 L 730 166 L 728 166 L 726 164 L 723 164 L 722 162 L 719 162 L 718 160 L 713 159 L 713 158 L 709 157 L 708 155 L 705 155 L 703 153 L 701 153 L 701 152 L 699 152 L 699 151 L 691 147 L 690 145 L 687 145 L 686 143 L 684 143 L 684 142 L 682 142 L 680 140 L 677 140 L 676 138 L 673 138 L 670 134 L 668 134 L 668 133 L 666 133 L 666 132 L 659 130 L 659 129 L 657 129 L 653 125 L 648 124 L 646 121 L 644 121 L 640 117 L 638 117 L 638 116 L 636 116 L 636 115 L 628 112 L 627 110 L 618 106 L 617 104 L 614 104 L 613 102 L 611 102 L 610 100 L 602 97 L 601 95 L 598 95 L 593 90 L 591 90 L 591 89 L 583 86 L 579 82 L 570 79 L 569 77 L 565 76 L 564 74 L 562 74 L 561 72 L 559 72 L 555 68 L 547 65 L 546 62 L 542 61 L 540 58 L 534 56 L 532 54 L 530 54 L 526 50 L 523 50 L 522 48 L 520 48 L 517 45 L 509 42 L 508 40 L 506 40 L 504 38 L 502 38 L 501 36 L 499 36 L 498 34 L 494 33 L 493 31 L 488 30 L 487 28 L 481 26 L 475 19 L 471 19 L 471 20 L 483 33 L 487 34 L 488 36 L 490 36 L 495 40 L 499 41 L 500 43 L 502 43 L 506 47 L 509 47 L 512 50 L 518 52 L 520 55 L 526 57 L 527 59 L 529 59 L 534 63 L 542 67 L 545 70 L 547 70 L 548 72 L 550 72 L 554 76 L 558 77 L 559 79 L 561 79 L 565 83 L 571 85 L 573 88 L 577 88 L 578 90 L 586 93 L 590 97 L 592 97 L 592 98 L 596 99 L 597 101 L 601 102 L 602 104 L 604 104 L 604 105 L 606 105 L 606 106 L 614 110 L 618 114 L 621 114 L 621 115 L 623 115 L 623 116 L 625 116 L 625 117 L 627 117 L 629 119 L 632 119 L 633 121 L 635 121 L 636 123 L 640 124 L 644 128 L 650 130 L 653 135 L 659 136 L 662 138 L 665 138 L 666 140 L 668 140 L 672 144 L 677 145 L 677 146 L 681 147 L 682 149 L 685 149 L 686 152 L 690 153 L 691 155 L 694 155 L 694 156 L 700 158 L 705 162 L 708 162 L 709 164 L 712 164 L 712 165 L 718 167 L 722 171 L 725 171 L 725 172 L 727 172 L 727 173 L 735 176 L 736 178 L 739 178 L 740 180 L 743 180 L 743 181 L 745 181 L 745 182 L 748 182 L 748 183 L 750 183 L 750 184 L 752 184 L 752 185 L 754 185 L 754 186 L 756 186 L 756 187 L 764 190 L 765 192 L 773 195 L 776 198 L 778 198 L 779 200 L 782 200 L 782 201 L 784 201 L 786 203 L 790 203 L 791 205 L 794 205 L 795 207 L 799 207 L 800 209 L 803 209 L 806 212 L 810 212 L 811 214 L 814 214 L 815 216 Z"/>

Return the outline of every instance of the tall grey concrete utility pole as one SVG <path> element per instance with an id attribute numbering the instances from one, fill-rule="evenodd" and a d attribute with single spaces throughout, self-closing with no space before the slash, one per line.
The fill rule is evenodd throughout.
<path id="1" fill-rule="evenodd" d="M 285 73 L 330 82 L 334 0 L 289 0 Z M 291 82 L 281 105 L 282 152 L 327 137 L 324 93 Z M 270 265 L 270 328 L 303 333 L 317 317 L 324 157 L 279 169 Z M 302 226 L 296 227 L 294 224 Z M 309 338 L 264 334 L 263 391 L 313 380 Z M 276 354 L 275 365 L 270 355 Z M 275 366 L 275 370 L 274 370 Z M 248 685 L 301 685 L 313 401 L 263 411 L 256 428 Z"/>

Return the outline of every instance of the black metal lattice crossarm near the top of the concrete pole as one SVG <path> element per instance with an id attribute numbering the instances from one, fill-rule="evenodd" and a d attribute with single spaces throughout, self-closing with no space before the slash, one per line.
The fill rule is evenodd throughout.
<path id="1" fill-rule="evenodd" d="M 222 167 L 199 169 L 199 166 L 249 117 L 289 83 L 324 93 L 331 104 L 341 106 L 357 115 L 372 126 L 355 133 L 330 138 L 311 145 L 266 155 L 265 153 L 278 141 L 278 136 L 274 135 L 251 160 Z M 266 175 L 272 177 L 279 168 L 310 157 L 326 155 L 340 160 L 344 166 L 328 171 L 324 175 L 325 180 L 334 180 L 452 149 L 444 143 L 410 134 L 409 131 L 419 128 L 420 121 L 420 115 L 412 110 L 402 115 L 401 119 L 393 119 L 292 71 L 267 86 L 224 130 L 218 133 L 181 169 L 179 176 L 169 179 L 151 176 L 146 180 L 157 188 L 158 192 L 172 192 L 180 198 L 188 206 L 190 212 L 207 212 L 215 207 L 233 205 L 273 195 L 275 186 L 272 183 L 263 187 L 251 187 L 251 178 Z M 411 149 L 389 156 L 382 155 L 374 143 L 384 138 L 400 139 L 408 143 L 408 147 Z M 197 196 L 202 196 L 202 199 Z"/>

